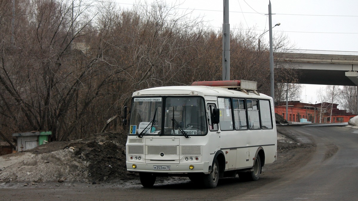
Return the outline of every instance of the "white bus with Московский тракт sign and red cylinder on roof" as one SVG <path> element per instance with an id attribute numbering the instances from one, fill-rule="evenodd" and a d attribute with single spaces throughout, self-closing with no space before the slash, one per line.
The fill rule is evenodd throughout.
<path id="1" fill-rule="evenodd" d="M 189 177 L 207 188 L 222 177 L 258 180 L 276 160 L 277 133 L 274 102 L 256 86 L 207 81 L 134 92 L 127 171 L 139 172 L 144 187 L 157 176 Z"/>

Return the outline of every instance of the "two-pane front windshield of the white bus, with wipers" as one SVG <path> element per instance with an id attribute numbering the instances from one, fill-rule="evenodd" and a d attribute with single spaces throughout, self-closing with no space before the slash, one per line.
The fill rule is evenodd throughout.
<path id="1" fill-rule="evenodd" d="M 164 105 L 165 104 L 165 105 Z M 164 105 L 164 106 L 163 106 Z M 206 135 L 202 97 L 140 97 L 132 100 L 130 135 Z"/>

